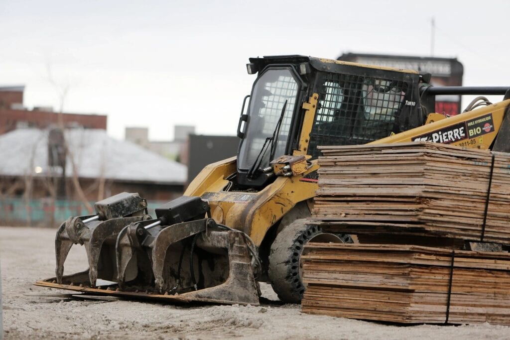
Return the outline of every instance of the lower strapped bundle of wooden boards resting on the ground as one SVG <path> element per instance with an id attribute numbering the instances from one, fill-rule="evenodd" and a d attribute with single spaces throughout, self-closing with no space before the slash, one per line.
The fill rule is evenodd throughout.
<path id="1" fill-rule="evenodd" d="M 303 312 L 398 323 L 510 325 L 507 252 L 324 243 L 305 249 Z"/>

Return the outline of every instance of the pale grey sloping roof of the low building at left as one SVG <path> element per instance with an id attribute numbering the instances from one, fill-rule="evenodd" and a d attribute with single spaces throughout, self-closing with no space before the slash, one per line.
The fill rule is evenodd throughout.
<path id="1" fill-rule="evenodd" d="M 70 154 L 66 175 L 72 175 L 70 156 L 82 178 L 184 184 L 187 167 L 127 141 L 109 137 L 103 129 L 68 129 Z M 59 168 L 48 164 L 48 130 L 16 129 L 0 136 L 0 175 L 47 176 Z M 41 169 L 37 168 L 40 167 Z M 40 173 L 36 173 L 36 168 Z"/>

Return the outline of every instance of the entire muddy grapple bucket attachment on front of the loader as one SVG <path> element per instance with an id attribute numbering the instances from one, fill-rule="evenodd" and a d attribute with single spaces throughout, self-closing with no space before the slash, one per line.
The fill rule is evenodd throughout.
<path id="1" fill-rule="evenodd" d="M 96 203 L 98 216 L 104 205 Z M 56 239 L 57 277 L 36 284 L 160 301 L 259 304 L 254 268 L 260 269 L 260 261 L 253 242 L 210 218 L 206 201 L 177 198 L 157 208 L 153 220 L 144 209 L 126 212 L 131 216 L 110 212 L 63 223 Z M 65 257 L 78 243 L 86 247 L 90 268 L 62 276 Z"/>

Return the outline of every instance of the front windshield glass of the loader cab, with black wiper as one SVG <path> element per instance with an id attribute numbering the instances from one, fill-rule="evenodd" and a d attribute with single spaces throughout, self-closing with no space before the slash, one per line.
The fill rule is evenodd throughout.
<path id="1" fill-rule="evenodd" d="M 256 81 L 239 149 L 239 169 L 249 169 L 257 158 L 260 168 L 267 167 L 271 161 L 270 143 L 274 143 L 274 159 L 285 154 L 298 90 L 299 84 L 288 68 L 268 69 Z"/>

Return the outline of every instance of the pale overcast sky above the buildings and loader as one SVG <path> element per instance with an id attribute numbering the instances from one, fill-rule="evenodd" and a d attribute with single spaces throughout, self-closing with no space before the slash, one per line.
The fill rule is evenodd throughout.
<path id="1" fill-rule="evenodd" d="M 476 4 L 476 5 L 475 5 Z M 508 1 L 0 0 L 0 86 L 24 104 L 108 115 L 108 134 L 174 125 L 235 135 L 249 57 L 431 55 L 464 64 L 464 85 L 509 85 Z M 498 98 L 491 98 L 498 100 Z"/>

